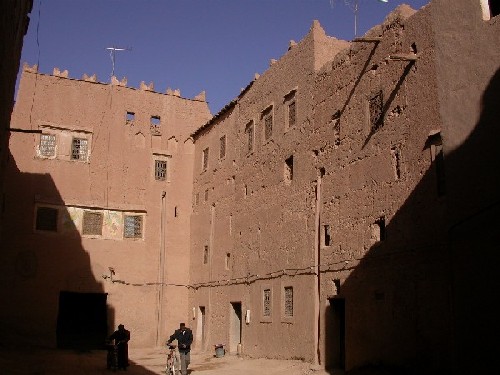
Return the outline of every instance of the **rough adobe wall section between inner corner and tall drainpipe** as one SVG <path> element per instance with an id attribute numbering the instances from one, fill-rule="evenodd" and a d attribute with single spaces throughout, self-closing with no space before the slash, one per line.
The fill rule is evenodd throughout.
<path id="1" fill-rule="evenodd" d="M 225 343 L 236 352 L 232 304 L 241 303 L 242 344 L 246 355 L 302 358 L 314 362 L 315 171 L 298 140 L 312 121 L 315 70 L 347 45 L 327 37 L 314 22 L 299 43 L 272 60 L 213 123 L 195 134 L 190 303 L 205 308 L 205 347 Z M 296 120 L 287 108 L 295 101 Z M 263 116 L 272 113 L 272 136 Z M 246 128 L 252 123 L 252 147 Z M 220 158 L 220 138 L 226 155 Z M 209 148 L 203 170 L 203 150 Z M 293 181 L 285 160 L 293 155 Z M 207 200 L 205 200 L 207 194 Z M 198 197 L 198 198 L 197 198 Z M 203 252 L 209 248 L 204 263 Z M 284 288 L 293 287 L 293 316 L 284 313 Z M 262 296 L 269 289 L 270 314 Z M 249 316 L 248 316 L 249 314 Z M 247 318 L 248 316 L 248 318 Z M 233 319 L 233 320 L 232 320 Z M 246 320 L 248 319 L 248 320 Z M 201 317 L 192 325 L 202 344 Z M 237 334 L 236 334 L 237 336 Z M 266 339 L 263 339 L 266 337 Z"/>

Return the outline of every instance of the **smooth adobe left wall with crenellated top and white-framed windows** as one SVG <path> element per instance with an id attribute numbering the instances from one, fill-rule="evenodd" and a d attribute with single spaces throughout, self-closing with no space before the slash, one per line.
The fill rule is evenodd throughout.
<path id="1" fill-rule="evenodd" d="M 107 293 L 109 330 L 125 324 L 135 347 L 163 342 L 187 313 L 189 136 L 210 118 L 207 103 L 35 69 L 23 72 L 11 121 L 29 132 L 10 141 L 1 274 L 12 304 L 3 329 L 54 345 L 60 291 Z M 53 156 L 42 155 L 41 133 L 56 137 Z M 83 160 L 72 158 L 75 137 L 87 141 Z M 167 162 L 165 180 L 155 179 L 155 160 Z M 40 206 L 59 210 L 55 233 L 36 229 Z M 102 234 L 83 234 L 83 211 L 103 214 Z M 138 238 L 125 238 L 126 215 L 142 218 Z M 18 258 L 31 262 L 29 273 L 7 261 Z"/>

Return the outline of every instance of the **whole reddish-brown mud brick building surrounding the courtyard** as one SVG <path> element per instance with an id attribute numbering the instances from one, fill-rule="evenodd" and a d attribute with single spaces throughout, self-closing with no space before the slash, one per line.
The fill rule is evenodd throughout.
<path id="1" fill-rule="evenodd" d="M 487 371 L 499 13 L 402 5 L 350 42 L 314 21 L 214 116 L 27 67 L 11 127 L 39 133 L 10 140 L 3 332 L 69 345 L 89 305 L 95 337 L 123 322 L 136 346 L 183 320 L 197 350 Z"/>

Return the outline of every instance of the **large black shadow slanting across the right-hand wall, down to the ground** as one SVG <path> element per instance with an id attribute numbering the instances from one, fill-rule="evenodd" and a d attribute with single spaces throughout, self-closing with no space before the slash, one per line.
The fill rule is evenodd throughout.
<path id="1" fill-rule="evenodd" d="M 444 157 L 444 195 L 433 164 L 384 228 L 385 239 L 330 301 L 327 366 L 343 364 L 345 355 L 351 373 L 470 374 L 496 367 L 498 98 L 500 69 L 483 93 L 473 132 Z M 345 348 L 338 335 L 344 312 Z"/>

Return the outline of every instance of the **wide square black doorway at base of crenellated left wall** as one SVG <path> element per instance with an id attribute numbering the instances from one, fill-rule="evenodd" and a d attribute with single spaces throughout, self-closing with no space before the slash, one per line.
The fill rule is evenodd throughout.
<path id="1" fill-rule="evenodd" d="M 106 293 L 60 292 L 57 347 L 103 349 L 108 334 Z"/>

